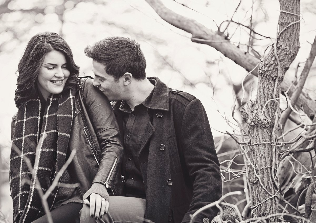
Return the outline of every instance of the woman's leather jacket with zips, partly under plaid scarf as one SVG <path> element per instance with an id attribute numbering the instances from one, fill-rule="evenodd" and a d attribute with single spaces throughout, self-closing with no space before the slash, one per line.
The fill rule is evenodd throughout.
<path id="1" fill-rule="evenodd" d="M 124 150 L 120 131 L 108 99 L 93 86 L 93 79 L 80 78 L 68 152 L 76 155 L 68 166 L 72 180 L 79 183 L 81 196 L 92 183 L 104 184 L 110 195 L 122 195 L 120 165 Z M 11 136 L 15 126 L 12 119 Z"/>

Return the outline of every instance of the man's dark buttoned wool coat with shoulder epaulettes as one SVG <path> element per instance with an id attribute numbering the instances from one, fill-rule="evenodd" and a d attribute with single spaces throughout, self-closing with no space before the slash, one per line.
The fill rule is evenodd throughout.
<path id="1" fill-rule="evenodd" d="M 222 196 L 210 124 L 196 97 L 168 88 L 157 77 L 148 79 L 155 79 L 156 85 L 137 160 L 146 192 L 145 218 L 156 223 L 189 222 L 190 214 Z M 113 103 L 113 109 L 124 137 L 120 104 Z M 216 213 L 208 210 L 195 222 L 208 223 Z"/>

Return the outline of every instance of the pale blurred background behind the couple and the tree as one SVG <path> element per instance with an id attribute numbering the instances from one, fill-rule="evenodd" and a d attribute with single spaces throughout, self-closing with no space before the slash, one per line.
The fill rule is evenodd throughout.
<path id="1" fill-rule="evenodd" d="M 279 15 L 276 0 L 164 0 L 178 14 L 224 33 L 232 44 L 260 58 L 276 37 Z M 223 161 L 224 193 L 243 191 L 244 177 L 234 170 L 242 169 L 242 157 L 234 140 L 223 134 L 234 132 L 231 111 L 255 97 L 257 78 L 248 76 L 245 92 L 241 81 L 246 70 L 210 46 L 193 43 L 191 34 L 163 21 L 145 0 L 0 0 L 0 211 L 1 219 L 12 222 L 12 202 L 8 184 L 10 123 L 16 112 L 14 91 L 16 69 L 27 41 L 36 33 L 57 32 L 68 42 L 80 66 L 80 76 L 93 76 L 91 59 L 83 49 L 106 36 L 135 38 L 147 60 L 147 76 L 157 76 L 168 86 L 187 91 L 199 98 L 209 117 L 218 156 Z M 297 79 L 315 36 L 316 2 L 301 0 L 301 49 L 286 75 Z M 241 25 L 242 24 L 242 25 Z M 249 29 L 251 27 L 251 30 Z M 304 87 L 316 99 L 315 64 Z M 241 101 L 241 99 L 244 101 Z M 283 103 L 282 103 L 283 100 Z M 281 100 L 286 106 L 286 100 Z M 237 109 L 238 111 L 238 109 Z M 239 114 L 235 117 L 240 120 Z M 241 121 L 241 120 L 240 120 Z M 288 124 L 289 126 L 291 124 Z M 288 137 L 293 137 L 289 134 Z M 225 171 L 229 167 L 233 171 Z M 297 174 L 293 191 L 299 191 L 302 178 Z M 303 178 L 304 179 L 304 178 Z M 293 182 L 292 182 L 293 183 Z M 296 191 L 297 189 L 297 191 Z M 228 202 L 246 205 L 245 197 Z"/>

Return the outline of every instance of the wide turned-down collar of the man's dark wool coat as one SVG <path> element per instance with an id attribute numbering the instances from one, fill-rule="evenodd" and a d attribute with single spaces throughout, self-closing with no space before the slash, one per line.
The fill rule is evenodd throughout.
<path id="1" fill-rule="evenodd" d="M 154 92 L 152 93 L 151 100 L 146 106 L 148 109 L 157 109 L 169 111 L 169 88 L 157 77 L 148 77 L 149 80 L 156 81 Z M 122 101 L 117 101 L 113 104 L 114 111 L 119 111 Z"/>

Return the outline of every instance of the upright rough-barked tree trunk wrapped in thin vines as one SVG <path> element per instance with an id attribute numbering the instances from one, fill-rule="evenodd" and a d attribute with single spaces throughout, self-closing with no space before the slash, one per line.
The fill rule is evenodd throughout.
<path id="1" fill-rule="evenodd" d="M 280 186 L 276 171 L 281 82 L 299 50 L 300 1 L 280 0 L 278 38 L 258 68 L 258 92 L 242 116 L 249 128 L 250 160 L 247 166 L 251 211 L 254 217 L 278 213 Z M 271 218 L 276 220 L 277 217 Z"/>

